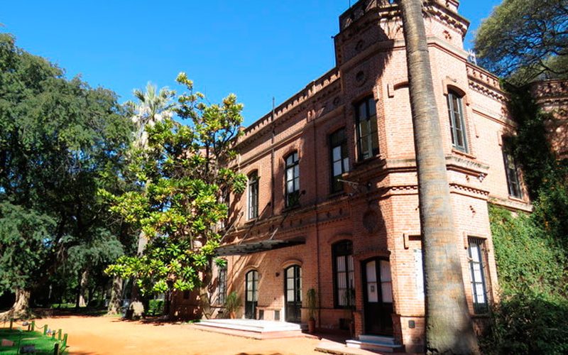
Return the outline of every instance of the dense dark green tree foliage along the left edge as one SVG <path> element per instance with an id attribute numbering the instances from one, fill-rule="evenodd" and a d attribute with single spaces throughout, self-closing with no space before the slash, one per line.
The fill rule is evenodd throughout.
<path id="1" fill-rule="evenodd" d="M 55 274 L 89 268 L 95 275 L 122 246 L 132 248 L 129 224 L 111 218 L 97 197 L 101 188 L 114 193 L 128 188 L 122 179 L 133 131 L 128 110 L 117 104 L 114 92 L 89 87 L 79 77 L 65 80 L 58 67 L 17 48 L 2 33 L 0 68 L 0 202 L 21 207 L 22 219 L 35 216 L 38 234 L 50 221 L 43 243 L 31 239 L 28 245 L 45 272 L 34 271 L 33 277 L 25 275 L 31 269 L 19 272 L 35 280 L 26 287 L 39 292 Z M 2 221 L 0 228 L 12 228 L 9 219 Z M 32 236 L 19 230 L 22 238 Z M 10 248 L 0 258 L 10 258 Z M 3 288 L 21 285 L 4 282 Z"/>

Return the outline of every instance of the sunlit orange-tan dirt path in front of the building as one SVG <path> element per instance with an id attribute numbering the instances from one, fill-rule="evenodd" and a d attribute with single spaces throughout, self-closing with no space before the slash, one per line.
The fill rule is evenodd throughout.
<path id="1" fill-rule="evenodd" d="M 38 320 L 69 334 L 70 354 L 322 354 L 317 339 L 254 340 L 192 329 L 187 324 L 143 324 L 111 317 Z"/>

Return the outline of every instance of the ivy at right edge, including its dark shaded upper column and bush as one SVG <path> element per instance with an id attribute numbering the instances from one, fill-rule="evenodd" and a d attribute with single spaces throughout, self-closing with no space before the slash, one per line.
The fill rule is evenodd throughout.
<path id="1" fill-rule="evenodd" d="M 506 85 L 517 135 L 506 144 L 523 167 L 530 215 L 490 207 L 501 300 L 493 307 L 487 354 L 565 354 L 568 332 L 568 162 L 550 150 L 528 86 Z"/>

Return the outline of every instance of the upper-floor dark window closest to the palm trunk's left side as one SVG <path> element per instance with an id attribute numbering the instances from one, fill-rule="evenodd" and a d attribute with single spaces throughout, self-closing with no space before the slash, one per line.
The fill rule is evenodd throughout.
<path id="1" fill-rule="evenodd" d="M 378 154 L 378 129 L 376 104 L 373 97 L 368 97 L 356 104 L 357 149 L 359 160 L 365 160 Z"/>

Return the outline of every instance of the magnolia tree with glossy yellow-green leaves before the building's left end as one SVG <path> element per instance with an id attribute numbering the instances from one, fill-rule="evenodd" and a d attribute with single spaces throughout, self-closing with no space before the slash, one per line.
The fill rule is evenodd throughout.
<path id="1" fill-rule="evenodd" d="M 214 226 L 228 212 L 222 195 L 240 194 L 246 186 L 246 177 L 228 168 L 236 157 L 242 104 L 233 94 L 222 104 L 206 104 L 185 73 L 177 81 L 188 91 L 173 108 L 179 120 L 163 116 L 146 126 L 146 147 L 133 148 L 129 173 L 143 188 L 102 192 L 111 211 L 138 224 L 148 239 L 143 253 L 119 258 L 107 273 L 136 278 L 143 294 L 165 293 L 166 314 L 174 290 L 200 288 L 202 307 L 208 307 L 207 284 L 221 239 Z"/>

